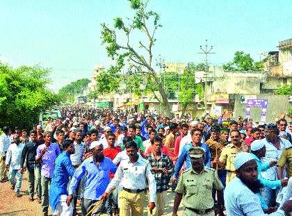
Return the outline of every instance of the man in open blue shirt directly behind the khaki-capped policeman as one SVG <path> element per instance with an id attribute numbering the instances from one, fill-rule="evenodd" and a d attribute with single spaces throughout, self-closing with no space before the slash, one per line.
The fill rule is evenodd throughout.
<path id="1" fill-rule="evenodd" d="M 179 154 L 179 158 L 177 159 L 177 163 L 175 165 L 175 174 L 173 175 L 174 183 L 177 183 L 177 177 L 179 176 L 179 171 L 181 170 L 182 165 L 184 165 L 184 161 L 186 161 L 186 169 L 192 166 L 190 163 L 190 151 L 188 151 L 191 147 L 201 147 L 205 149 L 204 166 L 211 167 L 210 150 L 206 144 L 201 143 L 202 134 L 203 132 L 199 128 L 194 128 L 192 131 L 190 131 L 190 135 L 192 136 L 192 142 L 186 144 Z"/>

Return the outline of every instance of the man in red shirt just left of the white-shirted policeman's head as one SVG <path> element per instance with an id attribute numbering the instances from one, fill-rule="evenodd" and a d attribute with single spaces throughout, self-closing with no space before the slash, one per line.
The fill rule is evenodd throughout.
<path id="1" fill-rule="evenodd" d="M 108 147 L 104 149 L 104 156 L 113 160 L 115 159 L 115 156 L 117 156 L 117 153 L 121 152 L 122 149 L 120 147 L 115 147 L 115 133 L 106 134 L 106 141 L 108 142 Z M 113 179 L 115 175 L 109 172 L 109 176 L 110 176 L 110 183 L 111 183 L 111 180 Z M 113 193 L 108 196 L 108 199 L 106 199 L 106 213 L 108 215 L 113 215 L 112 203 L 114 203 L 115 215 L 117 215 L 117 213 L 119 213 L 119 209 L 117 206 L 117 190 L 114 190 Z"/>

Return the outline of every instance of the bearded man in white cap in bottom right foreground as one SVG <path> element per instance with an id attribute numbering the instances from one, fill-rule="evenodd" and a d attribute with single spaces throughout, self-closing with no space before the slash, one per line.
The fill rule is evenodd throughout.
<path id="1" fill-rule="evenodd" d="M 261 188 L 258 179 L 257 161 L 248 152 L 238 153 L 234 158 L 236 177 L 226 186 L 224 192 L 227 215 L 263 216 L 261 200 L 257 193 Z M 286 201 L 281 209 L 270 216 L 284 216 L 292 211 L 292 201 Z"/>

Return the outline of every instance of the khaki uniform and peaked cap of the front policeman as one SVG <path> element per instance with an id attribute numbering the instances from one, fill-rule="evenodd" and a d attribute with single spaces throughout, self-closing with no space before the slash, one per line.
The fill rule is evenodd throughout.
<path id="1" fill-rule="evenodd" d="M 204 149 L 202 152 L 204 153 Z M 223 190 L 224 188 L 215 169 L 204 166 L 202 172 L 197 174 L 193 167 L 190 167 L 182 172 L 175 192 L 184 194 L 183 216 L 215 216 L 215 210 L 213 209 L 214 201 L 212 198 L 213 188 L 216 190 Z"/>

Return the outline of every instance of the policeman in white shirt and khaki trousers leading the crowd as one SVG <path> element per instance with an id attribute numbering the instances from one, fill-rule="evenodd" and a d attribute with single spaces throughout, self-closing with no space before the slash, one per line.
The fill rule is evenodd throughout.
<path id="1" fill-rule="evenodd" d="M 150 213 L 152 213 L 156 197 L 156 181 L 151 172 L 152 167 L 148 160 L 138 156 L 136 142 L 127 142 L 125 147 L 129 159 L 121 161 L 117 172 L 115 172 L 115 177 L 106 188 L 106 192 L 101 199 L 105 199 L 107 194 L 120 183 L 122 185 L 122 192 L 119 195 L 120 216 L 142 216 L 146 200 L 145 191 L 147 185 L 149 185 L 148 207 Z"/>

